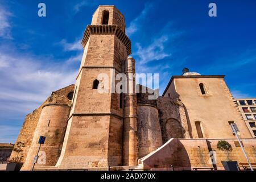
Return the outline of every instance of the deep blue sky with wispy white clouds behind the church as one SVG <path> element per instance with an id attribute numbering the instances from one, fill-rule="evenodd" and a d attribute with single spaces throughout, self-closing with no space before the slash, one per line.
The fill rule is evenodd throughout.
<path id="1" fill-rule="evenodd" d="M 39 18 L 38 3 L 47 7 Z M 217 5 L 217 17 L 208 5 Z M 125 15 L 138 73 L 159 73 L 160 93 L 184 67 L 226 75 L 234 97 L 256 97 L 256 1 L 0 0 L 0 142 L 15 142 L 26 114 L 75 82 L 80 40 L 98 5 Z"/>

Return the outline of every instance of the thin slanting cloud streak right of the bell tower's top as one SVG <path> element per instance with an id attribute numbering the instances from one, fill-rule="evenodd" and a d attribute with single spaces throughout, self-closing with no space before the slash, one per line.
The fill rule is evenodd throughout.
<path id="1" fill-rule="evenodd" d="M 148 11 L 151 9 L 151 7 L 152 7 L 151 4 L 146 3 L 141 14 L 139 14 L 139 16 L 137 16 L 137 18 L 135 18 L 134 20 L 131 21 L 130 26 L 128 28 L 126 28 L 127 36 L 131 36 L 138 30 L 139 25 L 141 24 L 142 20 L 146 17 L 146 15 L 147 15 Z"/>

